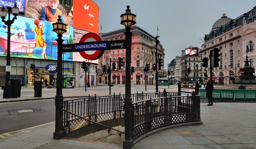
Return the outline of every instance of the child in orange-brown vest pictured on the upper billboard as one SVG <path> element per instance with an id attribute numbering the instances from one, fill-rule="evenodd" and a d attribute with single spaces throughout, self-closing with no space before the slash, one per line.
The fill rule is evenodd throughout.
<path id="1" fill-rule="evenodd" d="M 55 23 L 58 16 L 61 16 L 63 21 L 62 12 L 57 8 L 59 4 L 59 0 L 48 0 L 48 6 L 42 8 L 40 20 Z"/>

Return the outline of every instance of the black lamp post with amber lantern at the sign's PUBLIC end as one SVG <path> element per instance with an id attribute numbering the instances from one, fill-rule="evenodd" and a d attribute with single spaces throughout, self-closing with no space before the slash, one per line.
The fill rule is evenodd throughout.
<path id="1" fill-rule="evenodd" d="M 57 56 L 57 92 L 55 96 L 55 132 L 53 133 L 54 139 L 64 138 L 64 131 L 62 130 L 62 121 L 63 121 L 63 95 L 62 95 L 62 34 L 66 32 L 66 24 L 61 20 L 61 16 L 58 16 L 59 19 L 56 23 L 53 23 L 53 31 L 58 35 L 58 56 Z"/>

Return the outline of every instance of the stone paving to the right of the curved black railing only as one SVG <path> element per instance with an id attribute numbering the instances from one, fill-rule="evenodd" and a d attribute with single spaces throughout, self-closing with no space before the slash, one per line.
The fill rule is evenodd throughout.
<path id="1" fill-rule="evenodd" d="M 134 149 L 256 148 L 256 103 L 201 103 L 202 125 L 159 132 Z"/>

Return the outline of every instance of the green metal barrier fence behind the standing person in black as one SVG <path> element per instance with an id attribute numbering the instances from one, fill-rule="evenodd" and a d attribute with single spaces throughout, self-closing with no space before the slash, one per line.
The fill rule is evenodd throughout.
<path id="1" fill-rule="evenodd" d="M 200 88 L 201 101 L 208 101 L 206 90 Z M 213 101 L 215 102 L 256 102 L 256 90 L 239 89 L 213 89 Z"/>

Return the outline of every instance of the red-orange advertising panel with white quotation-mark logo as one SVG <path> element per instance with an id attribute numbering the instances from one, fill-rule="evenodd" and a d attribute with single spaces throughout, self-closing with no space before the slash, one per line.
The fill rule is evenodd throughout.
<path id="1" fill-rule="evenodd" d="M 73 27 L 99 34 L 99 8 L 91 0 L 73 1 Z"/>

